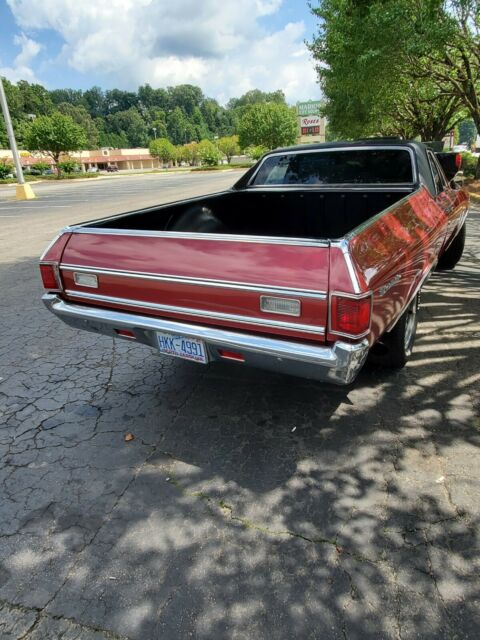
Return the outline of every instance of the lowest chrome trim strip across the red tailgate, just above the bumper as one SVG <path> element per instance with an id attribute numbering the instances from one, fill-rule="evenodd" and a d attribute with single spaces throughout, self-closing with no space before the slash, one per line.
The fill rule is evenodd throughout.
<path id="1" fill-rule="evenodd" d="M 139 307 L 142 309 L 154 309 L 156 311 L 164 311 L 166 313 L 177 313 L 195 318 L 208 318 L 211 320 L 226 320 L 230 322 L 238 322 L 239 324 L 248 324 L 253 326 L 270 327 L 272 329 L 288 329 L 290 331 L 299 331 L 300 333 L 311 333 L 314 335 L 324 335 L 325 327 L 313 326 L 309 324 L 299 324 L 296 322 L 284 322 L 280 320 L 271 320 L 264 318 L 252 318 L 251 316 L 240 316 L 233 313 L 222 313 L 220 311 L 204 311 L 200 309 L 190 309 L 188 307 L 175 307 L 168 304 L 159 304 L 156 302 L 145 302 L 143 300 L 131 300 L 124 298 L 115 298 L 113 296 L 104 296 L 97 293 L 85 293 L 83 291 L 65 291 L 67 296 L 72 298 L 80 298 L 81 300 L 90 302 L 106 302 L 110 304 L 120 304 L 126 307 Z"/>

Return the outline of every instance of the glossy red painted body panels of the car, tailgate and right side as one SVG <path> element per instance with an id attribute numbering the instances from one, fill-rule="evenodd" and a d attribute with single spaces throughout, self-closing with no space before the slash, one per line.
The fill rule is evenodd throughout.
<path id="1" fill-rule="evenodd" d="M 61 277 L 66 292 L 62 295 L 67 300 L 309 342 L 332 343 L 339 339 L 329 330 L 328 296 L 332 292 L 356 296 L 371 292 L 371 327 L 366 337 L 373 344 L 396 320 L 430 272 L 463 221 L 467 205 L 468 198 L 461 190 L 447 189 L 435 199 L 422 187 L 351 237 L 317 246 L 198 239 L 168 233 L 129 235 L 128 230 L 115 234 L 95 233 L 95 229 L 89 233 L 73 231 L 61 236 L 42 261 L 63 265 Z M 75 266 L 91 268 L 92 272 L 104 269 L 120 273 L 99 273 L 99 286 L 92 289 L 75 283 Z M 121 272 L 130 272 L 131 276 Z M 169 281 L 169 277 L 189 282 Z M 215 286 L 209 286 L 209 281 L 215 281 Z M 232 288 L 227 282 L 236 285 Z M 263 313 L 259 305 L 262 287 L 293 290 L 278 296 L 300 300 L 301 315 Z M 306 290 L 310 296 L 305 295 Z M 88 301 L 76 292 L 120 300 Z M 314 292 L 325 296 L 315 297 Z M 275 294 L 266 291 L 264 295 Z M 132 307 L 121 299 L 138 304 Z M 183 311 L 152 309 L 142 303 L 182 307 Z M 202 312 L 244 316 L 250 322 L 202 317 Z M 289 326 L 255 325 L 255 319 L 286 322 Z M 303 325 L 303 329 L 296 329 L 296 324 Z M 305 325 L 324 327 L 325 331 L 309 333 L 304 330 Z"/>

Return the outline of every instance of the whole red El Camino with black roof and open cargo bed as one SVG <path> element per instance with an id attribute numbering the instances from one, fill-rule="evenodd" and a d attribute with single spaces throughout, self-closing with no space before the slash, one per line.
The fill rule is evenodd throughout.
<path id="1" fill-rule="evenodd" d="M 462 255 L 455 154 L 363 140 L 277 149 L 232 189 L 74 225 L 46 306 L 79 329 L 336 384 L 402 367 L 420 290 Z"/>

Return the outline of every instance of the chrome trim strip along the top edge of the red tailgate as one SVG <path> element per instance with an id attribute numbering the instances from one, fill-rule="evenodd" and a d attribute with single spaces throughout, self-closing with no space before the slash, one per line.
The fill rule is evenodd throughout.
<path id="1" fill-rule="evenodd" d="M 194 233 L 188 231 L 148 231 L 142 229 L 108 229 L 103 227 L 65 227 L 70 233 L 87 233 L 106 236 L 135 236 L 142 238 L 174 238 L 181 240 L 222 240 L 225 242 L 246 242 L 251 244 L 283 244 L 300 247 L 328 247 L 328 240 L 316 238 L 285 238 L 273 236 L 244 236 L 233 233 Z"/>

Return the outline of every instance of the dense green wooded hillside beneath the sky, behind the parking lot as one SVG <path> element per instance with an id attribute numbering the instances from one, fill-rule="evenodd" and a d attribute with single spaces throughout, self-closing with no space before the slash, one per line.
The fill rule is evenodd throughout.
<path id="1" fill-rule="evenodd" d="M 158 89 L 145 84 L 137 91 L 104 91 L 97 86 L 85 91 L 47 91 L 38 84 L 7 80 L 4 85 L 20 147 L 26 146 L 32 119 L 54 111 L 69 115 L 84 129 L 87 147 L 128 148 L 148 146 L 152 138 L 168 138 L 175 145 L 185 145 L 230 137 L 237 133 L 241 117 L 252 105 L 285 105 L 282 91 L 254 89 L 224 107 L 190 84 Z M 8 147 L 8 140 L 0 118 L 2 147 Z"/>

